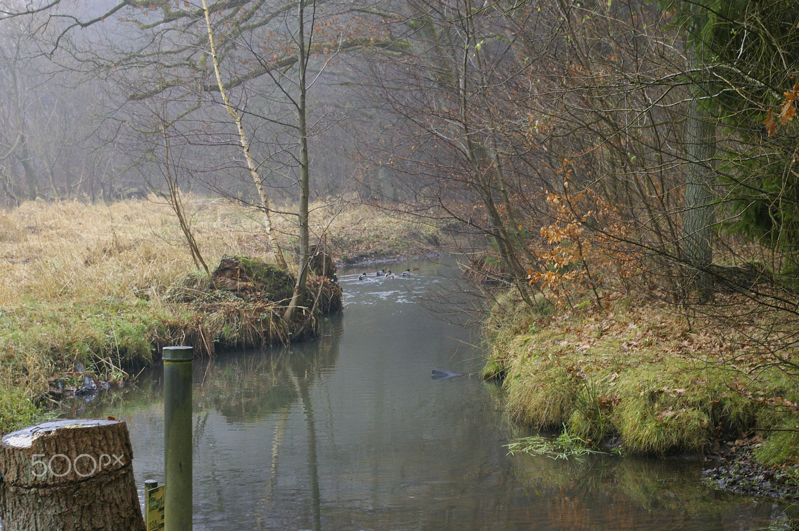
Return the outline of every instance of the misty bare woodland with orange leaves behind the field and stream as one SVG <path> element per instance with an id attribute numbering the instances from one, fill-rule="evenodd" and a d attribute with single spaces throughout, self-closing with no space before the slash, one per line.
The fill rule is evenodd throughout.
<path id="1" fill-rule="evenodd" d="M 222 196 L 299 264 L 324 237 L 309 201 L 374 204 L 473 236 L 486 295 L 635 293 L 702 319 L 726 363 L 793 375 L 795 8 L 6 2 L 2 200 Z"/>

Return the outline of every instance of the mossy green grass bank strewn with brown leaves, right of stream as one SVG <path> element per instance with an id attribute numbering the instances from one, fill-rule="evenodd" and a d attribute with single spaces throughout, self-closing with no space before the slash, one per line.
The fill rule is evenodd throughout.
<path id="1" fill-rule="evenodd" d="M 674 307 L 616 295 L 605 307 L 531 309 L 510 297 L 487 323 L 484 369 L 503 377 L 507 411 L 633 452 L 705 452 L 749 430 L 763 462 L 799 459 L 797 382 L 777 367 L 735 363 L 732 344 Z M 770 431 L 787 430 L 787 431 Z"/>

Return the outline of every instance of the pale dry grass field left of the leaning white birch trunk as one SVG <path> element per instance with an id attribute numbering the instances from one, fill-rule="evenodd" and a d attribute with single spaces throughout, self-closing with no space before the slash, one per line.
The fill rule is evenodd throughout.
<path id="1" fill-rule="evenodd" d="M 225 251 L 263 254 L 248 240 L 257 224 L 247 212 L 194 202 L 189 210 L 209 259 Z M 43 303 L 158 291 L 194 268 L 174 216 L 162 204 L 29 201 L 2 212 L 0 220 L 12 235 L 0 241 L 3 306 L 25 297 Z"/>

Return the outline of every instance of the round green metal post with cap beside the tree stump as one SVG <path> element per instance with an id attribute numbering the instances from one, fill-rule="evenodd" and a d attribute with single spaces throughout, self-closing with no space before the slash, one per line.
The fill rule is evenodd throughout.
<path id="1" fill-rule="evenodd" d="M 192 529 L 192 347 L 164 347 L 165 531 Z"/>

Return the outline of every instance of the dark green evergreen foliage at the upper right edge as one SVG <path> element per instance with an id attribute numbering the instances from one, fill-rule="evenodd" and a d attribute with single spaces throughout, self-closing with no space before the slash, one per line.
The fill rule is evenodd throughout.
<path id="1" fill-rule="evenodd" d="M 687 45 L 700 54 L 702 69 L 710 74 L 702 105 L 718 115 L 728 137 L 721 146 L 718 180 L 725 185 L 721 204 L 734 215 L 729 228 L 784 252 L 783 272 L 793 271 L 799 260 L 797 133 L 783 128 L 778 135 L 769 134 L 762 124 L 797 81 L 797 11 L 777 0 L 662 6 L 674 10 Z M 783 117 L 781 125 L 789 121 Z"/>

